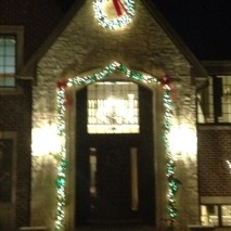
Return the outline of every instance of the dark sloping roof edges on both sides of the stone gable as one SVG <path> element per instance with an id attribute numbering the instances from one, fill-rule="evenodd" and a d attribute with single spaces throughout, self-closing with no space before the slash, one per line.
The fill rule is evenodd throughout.
<path id="1" fill-rule="evenodd" d="M 175 33 L 171 26 L 167 23 L 165 17 L 152 2 L 152 0 L 141 0 L 142 3 L 146 7 L 147 11 L 152 14 L 152 16 L 156 20 L 159 26 L 164 29 L 167 36 L 172 40 L 172 42 L 177 46 L 177 48 L 182 52 L 185 59 L 192 64 L 192 73 L 193 77 L 206 77 L 208 76 L 204 66 L 198 62 L 195 55 L 190 51 L 190 49 L 185 46 L 185 43 L 181 40 L 181 38 Z M 27 63 L 21 68 L 21 76 L 36 76 L 36 64 L 42 57 L 42 55 L 47 52 L 47 50 L 51 47 L 55 38 L 65 29 L 66 25 L 69 21 L 75 16 L 76 12 L 82 7 L 85 0 L 76 1 L 69 11 L 64 15 L 61 20 L 60 24 L 53 29 L 50 36 L 44 40 L 44 42 L 37 49 L 37 51 L 31 55 L 31 57 L 27 61 Z"/>

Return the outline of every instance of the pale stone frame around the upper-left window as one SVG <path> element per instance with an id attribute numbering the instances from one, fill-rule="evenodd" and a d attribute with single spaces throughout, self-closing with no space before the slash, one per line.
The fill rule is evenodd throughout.
<path id="1" fill-rule="evenodd" d="M 0 26 L 0 36 L 15 36 L 16 51 L 15 51 L 15 86 L 14 87 L 0 87 L 0 93 L 2 90 L 15 90 L 17 89 L 16 75 L 22 68 L 24 63 L 24 26 Z"/>

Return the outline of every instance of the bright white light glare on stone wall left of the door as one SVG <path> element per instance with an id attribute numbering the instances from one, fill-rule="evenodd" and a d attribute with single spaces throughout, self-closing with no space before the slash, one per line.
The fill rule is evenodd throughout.
<path id="1" fill-rule="evenodd" d="M 60 137 L 55 124 L 43 123 L 39 128 L 33 129 L 33 155 L 43 156 L 59 153 L 61 150 Z"/>

